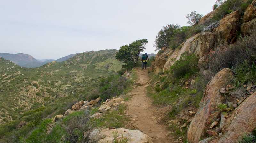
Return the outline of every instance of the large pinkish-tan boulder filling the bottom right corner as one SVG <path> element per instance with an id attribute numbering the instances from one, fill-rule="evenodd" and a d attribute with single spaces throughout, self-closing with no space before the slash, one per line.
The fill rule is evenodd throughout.
<path id="1" fill-rule="evenodd" d="M 236 108 L 224 125 L 224 134 L 211 143 L 235 143 L 256 128 L 256 92 Z"/>

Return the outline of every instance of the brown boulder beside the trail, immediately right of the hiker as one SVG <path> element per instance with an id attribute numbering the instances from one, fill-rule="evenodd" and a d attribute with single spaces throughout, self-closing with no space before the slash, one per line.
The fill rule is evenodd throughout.
<path id="1" fill-rule="evenodd" d="M 158 52 L 156 54 L 155 61 L 152 62 L 152 65 L 149 68 L 152 72 L 158 73 L 159 71 L 162 71 L 169 55 L 173 52 L 169 47 L 163 47 L 161 51 L 163 52 Z"/>

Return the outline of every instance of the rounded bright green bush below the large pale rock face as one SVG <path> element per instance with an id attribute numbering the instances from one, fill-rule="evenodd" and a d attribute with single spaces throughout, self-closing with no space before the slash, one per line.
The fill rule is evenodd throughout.
<path id="1" fill-rule="evenodd" d="M 180 60 L 170 67 L 170 73 L 176 79 L 189 77 L 199 71 L 197 66 L 198 58 L 195 54 L 184 53 L 181 55 Z"/>

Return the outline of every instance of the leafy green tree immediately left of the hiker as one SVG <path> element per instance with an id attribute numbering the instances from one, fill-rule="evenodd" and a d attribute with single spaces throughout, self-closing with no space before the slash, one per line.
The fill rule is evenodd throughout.
<path id="1" fill-rule="evenodd" d="M 123 68 L 132 69 L 139 60 L 139 55 L 146 48 L 145 45 L 148 43 L 147 39 L 140 39 L 132 42 L 129 45 L 121 46 L 119 51 L 116 53 L 116 59 L 124 62 Z"/>

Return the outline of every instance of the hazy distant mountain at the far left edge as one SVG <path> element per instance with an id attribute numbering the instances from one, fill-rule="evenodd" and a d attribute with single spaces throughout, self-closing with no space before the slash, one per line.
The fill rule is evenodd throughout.
<path id="1" fill-rule="evenodd" d="M 10 53 L 0 53 L 0 57 L 10 60 L 13 63 L 27 68 L 40 67 L 45 64 L 45 62 L 40 62 L 36 60 L 34 57 L 28 54 L 18 53 L 18 54 L 10 54 Z"/>

